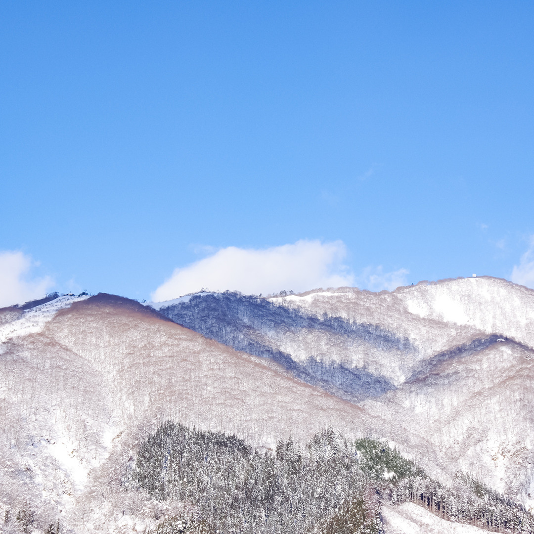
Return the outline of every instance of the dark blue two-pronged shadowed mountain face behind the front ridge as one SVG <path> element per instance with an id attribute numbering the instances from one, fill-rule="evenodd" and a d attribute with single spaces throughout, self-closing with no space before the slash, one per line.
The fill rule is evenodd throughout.
<path id="1" fill-rule="evenodd" d="M 206 337 L 281 364 L 296 378 L 321 386 L 349 400 L 376 397 L 395 386 L 365 367 L 308 355 L 298 361 L 278 349 L 276 337 L 316 331 L 325 336 L 358 341 L 381 351 L 410 352 L 413 347 L 378 325 L 350 323 L 341 317 L 314 317 L 269 300 L 240 293 L 193 295 L 186 302 L 161 307 L 160 313 Z"/>

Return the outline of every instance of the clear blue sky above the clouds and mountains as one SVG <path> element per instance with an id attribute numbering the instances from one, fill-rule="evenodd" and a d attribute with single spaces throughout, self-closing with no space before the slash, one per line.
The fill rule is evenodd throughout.
<path id="1" fill-rule="evenodd" d="M 0 40 L 27 283 L 143 299 L 303 240 L 374 289 L 532 259 L 532 2 L 17 0 Z"/>

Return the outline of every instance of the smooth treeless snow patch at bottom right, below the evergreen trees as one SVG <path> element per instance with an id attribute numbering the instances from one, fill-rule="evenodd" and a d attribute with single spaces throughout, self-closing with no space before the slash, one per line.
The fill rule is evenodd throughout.
<path id="1" fill-rule="evenodd" d="M 385 534 L 485 534 L 488 531 L 461 523 L 452 523 L 413 502 L 382 506 Z"/>

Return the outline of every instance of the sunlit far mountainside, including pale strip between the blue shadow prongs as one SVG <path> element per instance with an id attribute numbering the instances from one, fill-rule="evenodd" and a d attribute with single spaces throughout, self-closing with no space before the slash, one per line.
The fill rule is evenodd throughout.
<path id="1" fill-rule="evenodd" d="M 348 364 L 384 376 L 395 386 L 428 358 L 491 334 L 534 348 L 534 291 L 497 278 L 421 282 L 379 294 L 342 288 L 270 301 L 318 318 L 376 325 L 397 339 L 409 340 L 409 350 L 395 351 L 339 336 L 334 339 L 319 331 L 269 333 L 274 347 L 299 362 L 311 356 L 325 363 Z"/>

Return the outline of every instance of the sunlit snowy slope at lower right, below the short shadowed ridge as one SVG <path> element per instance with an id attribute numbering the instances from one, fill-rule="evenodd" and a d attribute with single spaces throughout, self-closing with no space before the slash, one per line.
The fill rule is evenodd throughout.
<path id="1" fill-rule="evenodd" d="M 419 435 L 430 462 L 470 473 L 534 505 L 534 356 L 512 342 L 441 362 L 426 376 L 361 405 L 390 420 L 392 439 Z M 400 448 L 409 453 L 406 441 Z"/>

